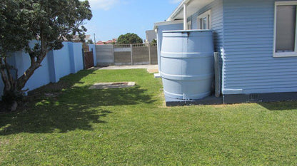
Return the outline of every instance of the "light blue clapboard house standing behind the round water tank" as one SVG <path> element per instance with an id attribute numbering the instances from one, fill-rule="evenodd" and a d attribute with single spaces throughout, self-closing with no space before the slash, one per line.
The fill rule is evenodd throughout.
<path id="1" fill-rule="evenodd" d="M 183 0 L 162 31 L 213 30 L 223 103 L 297 100 L 297 1 Z M 160 61 L 159 61 L 160 62 Z"/>

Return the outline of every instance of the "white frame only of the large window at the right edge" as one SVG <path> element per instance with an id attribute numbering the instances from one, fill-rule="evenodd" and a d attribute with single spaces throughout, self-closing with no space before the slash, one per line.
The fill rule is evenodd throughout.
<path id="1" fill-rule="evenodd" d="M 273 32 L 273 57 L 291 57 L 297 56 L 297 16 L 296 16 L 296 28 L 295 28 L 295 51 L 286 53 L 276 53 L 276 7 L 286 6 L 286 5 L 296 5 L 297 1 L 276 1 L 274 5 L 274 32 Z M 297 12 L 296 12 L 297 14 Z"/>

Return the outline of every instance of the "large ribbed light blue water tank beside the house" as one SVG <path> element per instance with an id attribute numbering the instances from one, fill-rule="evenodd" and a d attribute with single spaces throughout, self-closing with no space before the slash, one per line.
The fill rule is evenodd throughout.
<path id="1" fill-rule="evenodd" d="M 211 94 L 213 77 L 211 30 L 163 31 L 161 78 L 166 96 L 204 98 Z"/>

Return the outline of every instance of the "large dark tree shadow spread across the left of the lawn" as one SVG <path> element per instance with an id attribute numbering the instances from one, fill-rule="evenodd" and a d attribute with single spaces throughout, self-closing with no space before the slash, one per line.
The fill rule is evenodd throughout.
<path id="1" fill-rule="evenodd" d="M 139 85 L 133 88 L 90 90 L 89 86 L 71 86 L 93 71 L 68 76 L 66 86 L 56 88 L 58 96 L 36 95 L 17 113 L 0 114 L 0 135 L 16 133 L 66 133 L 72 130 L 93 130 L 94 123 L 108 123 L 102 118 L 111 114 L 102 106 L 136 105 L 153 103 L 151 96 Z M 76 78 L 74 78 L 76 77 Z M 58 83 L 59 84 L 59 83 Z M 54 85 L 54 84 L 53 84 Z M 63 87 L 63 88 L 62 88 Z M 64 90 L 61 90 L 64 89 Z M 53 91 L 39 89 L 39 94 Z"/>

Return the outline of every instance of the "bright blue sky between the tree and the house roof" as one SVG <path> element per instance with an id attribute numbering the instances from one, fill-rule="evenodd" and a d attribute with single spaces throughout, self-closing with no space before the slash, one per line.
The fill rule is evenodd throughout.
<path id="1" fill-rule="evenodd" d="M 86 21 L 86 34 L 94 41 L 118 38 L 121 34 L 136 33 L 146 38 L 153 23 L 164 21 L 180 0 L 89 0 L 93 18 Z"/>

